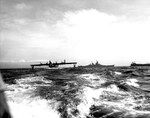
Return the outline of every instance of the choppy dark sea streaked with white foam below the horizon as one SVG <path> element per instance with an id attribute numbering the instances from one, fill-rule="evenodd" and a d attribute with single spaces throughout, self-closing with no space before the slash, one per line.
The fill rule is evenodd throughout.
<path id="1" fill-rule="evenodd" d="M 42 70 L 6 82 L 13 118 L 150 118 L 148 69 L 81 71 Z"/>

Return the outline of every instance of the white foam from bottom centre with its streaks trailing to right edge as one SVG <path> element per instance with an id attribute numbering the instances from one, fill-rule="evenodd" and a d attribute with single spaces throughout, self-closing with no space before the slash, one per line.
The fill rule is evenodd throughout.
<path id="1" fill-rule="evenodd" d="M 92 105 L 105 106 L 113 109 L 114 112 L 119 111 L 131 115 L 148 113 L 148 111 L 136 110 L 135 107 L 139 106 L 139 103 L 136 102 L 132 93 L 120 91 L 115 84 L 99 89 L 86 87 L 83 91 L 81 96 L 83 101 L 77 106 L 81 118 L 89 115 Z M 141 105 L 143 105 L 142 102 Z"/>

